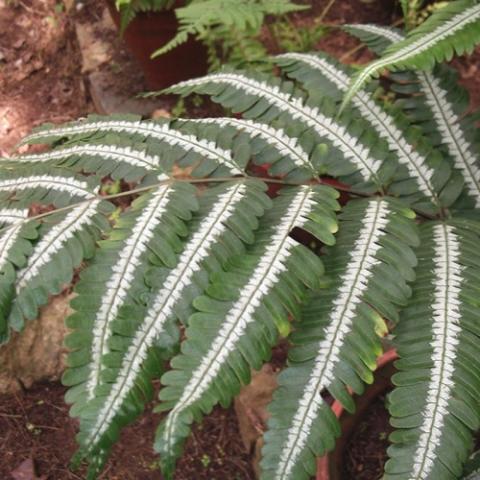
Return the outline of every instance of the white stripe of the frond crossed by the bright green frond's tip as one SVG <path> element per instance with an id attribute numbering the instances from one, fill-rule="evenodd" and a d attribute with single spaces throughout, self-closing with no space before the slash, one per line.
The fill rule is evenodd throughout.
<path id="1" fill-rule="evenodd" d="M 350 84 L 348 75 L 324 58 L 302 53 L 286 53 L 279 58 L 303 62 L 327 77 L 340 91 L 348 90 Z M 359 90 L 352 98 L 352 103 L 360 110 L 362 117 L 373 125 L 378 135 L 387 141 L 390 150 L 397 153 L 399 162 L 407 167 L 420 191 L 437 203 L 437 194 L 431 183 L 433 170 L 428 167 L 425 157 L 406 141 L 403 132 L 396 126 L 395 119 L 365 90 Z"/>

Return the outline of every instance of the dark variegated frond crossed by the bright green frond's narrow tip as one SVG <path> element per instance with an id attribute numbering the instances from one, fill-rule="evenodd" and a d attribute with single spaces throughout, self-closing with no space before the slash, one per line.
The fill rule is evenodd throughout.
<path id="1" fill-rule="evenodd" d="M 288 75 L 297 80 L 305 81 L 307 79 L 309 83 L 314 83 L 315 80 L 323 78 L 342 94 L 348 89 L 350 77 L 339 65 L 326 56 L 287 53 L 276 58 L 278 59 L 277 63 L 287 71 Z M 318 86 L 315 85 L 314 88 L 318 88 Z M 331 88 L 328 88 L 327 91 L 331 94 Z M 407 176 L 415 180 L 415 191 L 420 191 L 438 209 L 440 207 L 438 193 L 448 180 L 448 176 L 445 174 L 445 170 L 448 171 L 448 166 L 441 165 L 428 144 L 420 148 L 418 139 L 416 139 L 417 145 L 410 143 L 407 140 L 410 132 L 397 125 L 399 120 L 403 124 L 406 123 L 405 119 L 399 118 L 400 112 L 392 110 L 392 113 L 389 113 L 377 103 L 370 92 L 359 90 L 353 96 L 352 104 L 373 127 L 379 137 L 387 142 L 390 151 L 395 152 L 397 162 L 406 168 Z M 432 163 L 436 168 L 433 168 Z M 435 178 L 435 172 L 441 172 L 442 175 Z M 404 176 L 405 172 L 403 178 Z M 389 190 L 392 193 L 401 194 L 405 188 L 404 185 L 404 183 L 401 184 L 397 189 L 394 185 Z"/>

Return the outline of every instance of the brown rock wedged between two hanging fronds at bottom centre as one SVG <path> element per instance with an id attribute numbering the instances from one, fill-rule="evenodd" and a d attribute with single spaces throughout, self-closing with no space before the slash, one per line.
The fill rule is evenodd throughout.
<path id="1" fill-rule="evenodd" d="M 253 469 L 260 476 L 260 458 L 263 445 L 263 432 L 266 430 L 271 402 L 277 388 L 277 374 L 273 366 L 265 364 L 258 372 L 252 373 L 252 381 L 242 388 L 235 398 L 235 413 L 238 418 L 240 436 L 248 453 L 253 456 Z"/>

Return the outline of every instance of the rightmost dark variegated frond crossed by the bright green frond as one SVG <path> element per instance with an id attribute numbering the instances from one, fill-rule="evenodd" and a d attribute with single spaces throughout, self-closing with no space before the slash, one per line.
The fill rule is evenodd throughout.
<path id="1" fill-rule="evenodd" d="M 385 27 L 351 25 L 346 30 L 365 41 L 377 53 L 381 53 L 390 43 L 399 42 L 404 38 L 399 32 Z M 409 75 L 411 79 L 408 78 Z M 393 75 L 393 78 L 396 79 L 396 75 Z M 465 116 L 467 107 L 462 101 L 467 97 L 466 92 L 457 84 L 453 72 L 445 66 L 431 72 L 415 71 L 409 74 L 402 72 L 398 81 L 393 89 L 408 94 L 408 98 L 400 104 L 410 117 L 419 123 L 435 146 L 444 147 L 444 153 L 450 158 L 452 166 L 465 180 L 467 200 L 457 203 L 460 205 L 466 203 L 468 206 L 478 208 L 480 167 L 474 154 L 475 141 L 471 133 L 475 125 L 468 116 Z M 455 199 L 457 195 L 448 196 Z"/>

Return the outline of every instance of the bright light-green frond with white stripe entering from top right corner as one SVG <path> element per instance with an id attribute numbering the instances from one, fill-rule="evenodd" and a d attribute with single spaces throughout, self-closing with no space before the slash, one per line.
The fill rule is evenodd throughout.
<path id="1" fill-rule="evenodd" d="M 352 80 L 344 105 L 364 83 L 384 68 L 428 70 L 436 62 L 451 60 L 454 53 L 471 53 L 480 42 L 480 5 L 475 0 L 458 0 L 437 10 L 399 43 L 391 45 L 382 58 L 363 68 Z"/>

